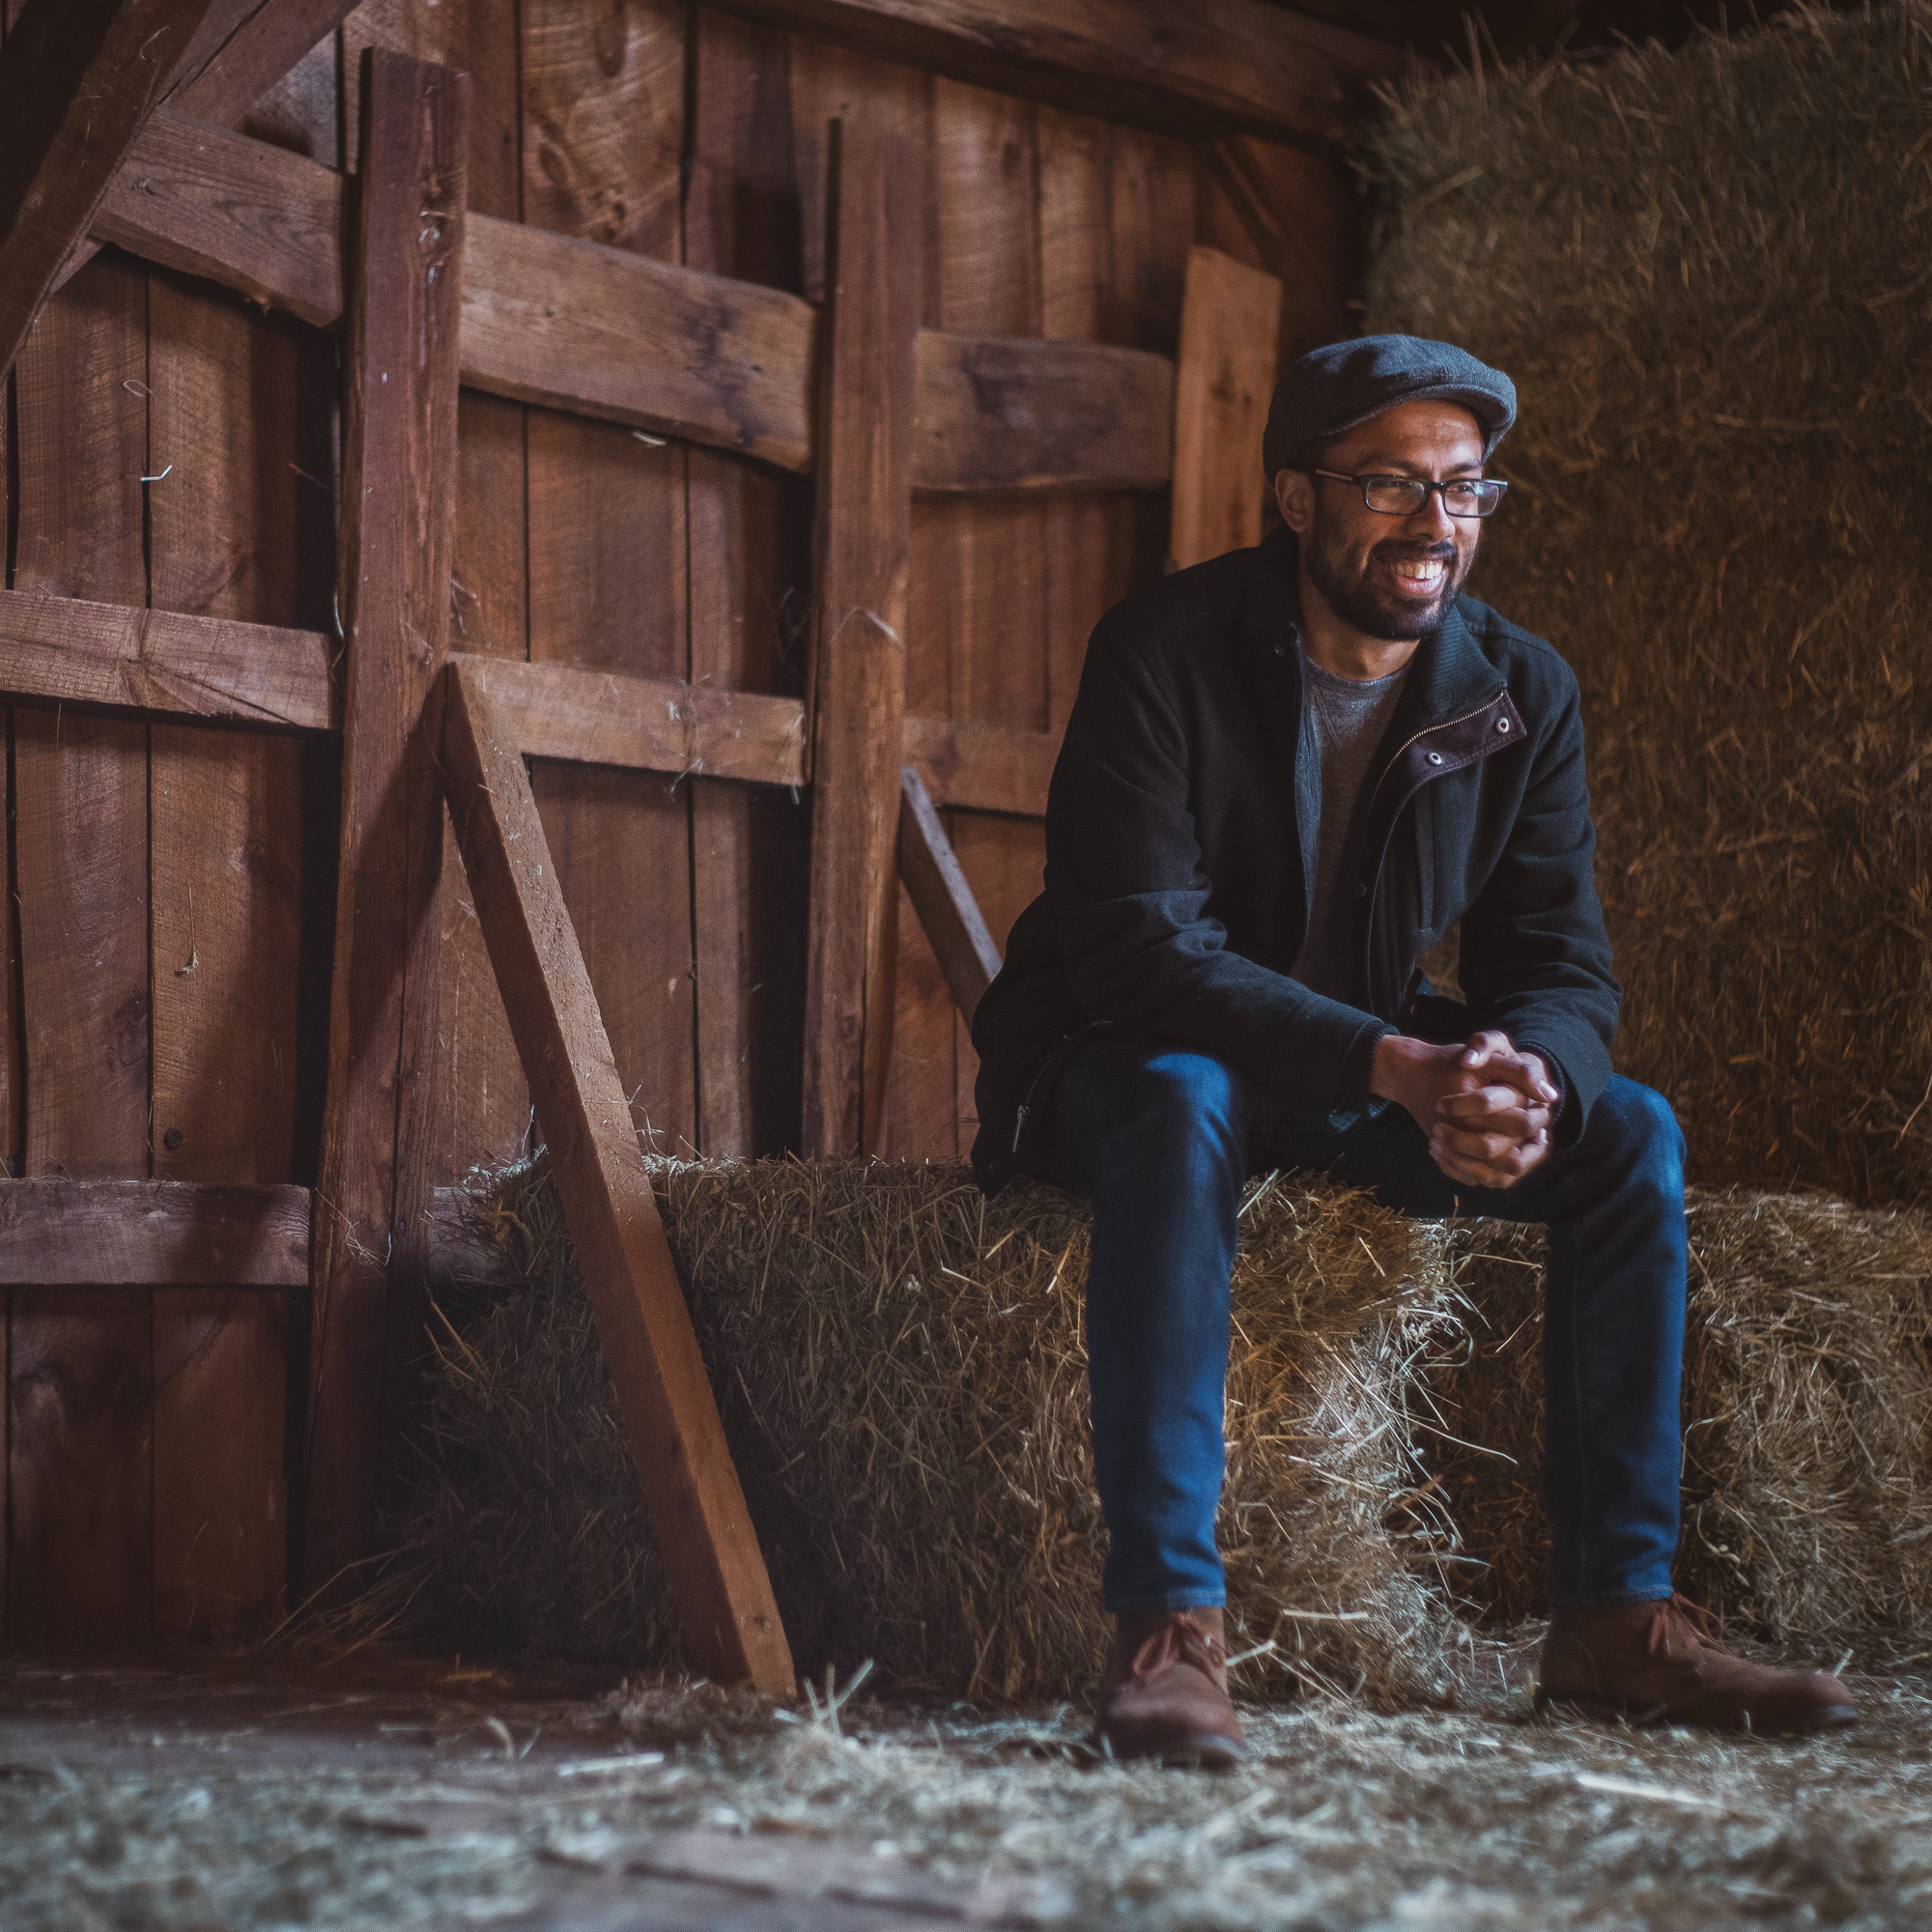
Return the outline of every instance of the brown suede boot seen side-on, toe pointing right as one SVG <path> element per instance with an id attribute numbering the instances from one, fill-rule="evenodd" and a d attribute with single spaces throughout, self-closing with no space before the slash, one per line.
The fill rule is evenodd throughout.
<path id="1" fill-rule="evenodd" d="M 1801 1737 L 1859 1716 L 1851 1692 L 1830 1671 L 1733 1658 L 1716 1642 L 1710 1613 L 1681 1596 L 1559 1611 L 1536 1675 L 1538 1710 L 1640 1725 Z"/>

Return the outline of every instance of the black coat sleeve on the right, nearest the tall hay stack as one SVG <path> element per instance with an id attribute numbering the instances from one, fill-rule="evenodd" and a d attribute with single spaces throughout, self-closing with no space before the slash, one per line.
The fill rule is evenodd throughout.
<path id="1" fill-rule="evenodd" d="M 1463 914 L 1463 991 L 1493 1026 L 1551 1063 L 1563 1088 L 1557 1146 L 1573 1146 L 1609 1082 L 1623 987 L 1596 896 L 1596 825 L 1584 782 L 1577 680 L 1536 742 L 1503 856 Z"/>

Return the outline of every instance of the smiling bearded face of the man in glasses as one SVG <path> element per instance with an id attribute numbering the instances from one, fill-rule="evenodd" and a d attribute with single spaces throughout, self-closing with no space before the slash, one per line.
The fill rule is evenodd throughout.
<path id="1" fill-rule="evenodd" d="M 1478 477 L 1482 431 L 1453 402 L 1399 402 L 1329 444 L 1320 468 L 1430 483 Z M 1414 516 L 1383 516 L 1354 483 L 1283 469 L 1275 497 L 1329 609 L 1383 643 L 1408 643 L 1441 622 L 1476 562 L 1482 526 L 1449 516 L 1439 495 Z"/>

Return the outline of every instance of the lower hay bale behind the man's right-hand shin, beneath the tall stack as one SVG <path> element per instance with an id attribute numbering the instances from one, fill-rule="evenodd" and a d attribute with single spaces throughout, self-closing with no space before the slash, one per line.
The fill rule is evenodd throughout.
<path id="1" fill-rule="evenodd" d="M 1548 1594 L 1542 1233 L 1464 1223 L 1451 1246 L 1470 1339 L 1424 1414 L 1492 1453 L 1437 1437 L 1430 1464 L 1488 1565 L 1463 1590 L 1517 1623 Z M 1932 1625 L 1928 1279 L 1924 1215 L 1692 1196 L 1685 1594 L 1777 1640 Z"/>

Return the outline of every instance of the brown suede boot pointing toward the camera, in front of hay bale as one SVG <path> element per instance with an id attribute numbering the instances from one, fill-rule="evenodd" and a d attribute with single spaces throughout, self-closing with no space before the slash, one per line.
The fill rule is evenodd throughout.
<path id="1" fill-rule="evenodd" d="M 1227 1696 L 1219 1609 L 1121 1619 L 1088 1745 L 1103 1758 L 1159 1758 L 1209 1772 L 1248 1756 Z"/>

